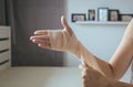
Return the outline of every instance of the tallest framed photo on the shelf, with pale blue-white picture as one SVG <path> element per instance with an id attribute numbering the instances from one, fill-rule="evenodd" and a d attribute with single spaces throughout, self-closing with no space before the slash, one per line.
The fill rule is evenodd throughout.
<path id="1" fill-rule="evenodd" d="M 98 21 L 108 21 L 108 20 L 109 20 L 109 9 L 98 8 Z"/>

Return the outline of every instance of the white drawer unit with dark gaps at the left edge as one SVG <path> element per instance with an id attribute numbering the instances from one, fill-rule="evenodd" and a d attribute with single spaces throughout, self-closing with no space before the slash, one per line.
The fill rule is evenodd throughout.
<path id="1" fill-rule="evenodd" d="M 0 25 L 0 72 L 11 66 L 11 28 Z"/>

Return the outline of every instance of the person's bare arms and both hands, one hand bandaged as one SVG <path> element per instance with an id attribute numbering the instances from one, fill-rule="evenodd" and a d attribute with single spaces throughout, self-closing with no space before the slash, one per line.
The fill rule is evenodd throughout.
<path id="1" fill-rule="evenodd" d="M 81 44 L 64 17 L 61 18 L 61 23 L 63 30 L 38 30 L 30 40 L 42 48 L 66 51 L 82 58 L 85 62 L 82 69 L 84 87 L 133 87 L 132 84 L 119 81 L 133 57 L 133 20 L 127 25 L 123 39 L 109 63 L 94 56 Z"/>

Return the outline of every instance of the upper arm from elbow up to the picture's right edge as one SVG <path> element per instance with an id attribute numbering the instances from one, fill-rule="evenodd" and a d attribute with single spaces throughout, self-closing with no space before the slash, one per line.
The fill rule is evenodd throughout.
<path id="1" fill-rule="evenodd" d="M 126 72 L 133 57 L 133 20 L 129 23 L 123 39 L 112 56 L 110 64 L 116 79 L 121 78 Z"/>

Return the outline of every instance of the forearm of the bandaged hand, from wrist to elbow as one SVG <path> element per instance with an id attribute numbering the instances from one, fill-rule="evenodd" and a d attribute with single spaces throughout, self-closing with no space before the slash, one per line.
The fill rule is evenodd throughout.
<path id="1" fill-rule="evenodd" d="M 83 58 L 83 61 L 92 68 L 99 70 L 102 75 L 109 78 L 113 78 L 112 67 L 109 63 L 100 59 L 90 53 L 80 42 L 79 50 L 76 50 L 76 56 Z"/>

